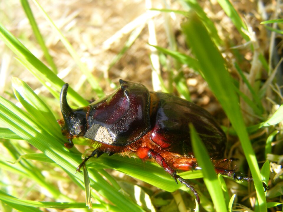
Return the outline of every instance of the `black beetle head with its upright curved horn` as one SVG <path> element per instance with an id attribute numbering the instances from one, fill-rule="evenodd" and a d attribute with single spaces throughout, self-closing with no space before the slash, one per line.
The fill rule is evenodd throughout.
<path id="1" fill-rule="evenodd" d="M 86 109 L 78 108 L 73 110 L 67 102 L 68 84 L 63 85 L 60 93 L 60 107 L 64 119 L 62 134 L 67 138 L 75 138 L 85 134 L 86 128 Z"/>

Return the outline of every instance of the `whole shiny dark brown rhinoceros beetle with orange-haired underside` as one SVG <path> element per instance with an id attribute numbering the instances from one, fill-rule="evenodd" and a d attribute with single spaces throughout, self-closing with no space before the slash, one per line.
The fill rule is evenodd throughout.
<path id="1" fill-rule="evenodd" d="M 119 88 L 108 97 L 86 107 L 72 109 L 66 96 L 68 84 L 62 87 L 60 107 L 62 134 L 73 147 L 73 138 L 90 139 L 97 148 L 83 159 L 103 153 L 135 153 L 142 160 L 153 158 L 176 181 L 187 186 L 200 203 L 195 188 L 177 175 L 176 170 L 200 169 L 192 152 L 189 123 L 192 123 L 213 160 L 223 158 L 226 135 L 212 115 L 203 108 L 177 96 L 149 92 L 140 83 L 119 80 Z M 242 173 L 215 163 L 216 173 L 235 180 L 252 181 Z"/>

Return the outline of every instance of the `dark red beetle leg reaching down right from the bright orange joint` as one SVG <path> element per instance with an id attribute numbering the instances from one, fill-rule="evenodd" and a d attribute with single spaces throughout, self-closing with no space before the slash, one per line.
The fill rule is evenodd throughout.
<path id="1" fill-rule="evenodd" d="M 181 178 L 179 175 L 177 175 L 177 172 L 172 169 L 165 161 L 165 159 L 160 155 L 160 153 L 154 152 L 154 150 L 148 150 L 148 156 L 154 158 L 154 160 L 167 172 L 169 173 L 172 178 L 174 178 L 175 182 L 178 184 L 177 180 L 180 181 L 180 183 L 187 186 L 187 188 L 190 189 L 190 191 L 195 195 L 196 200 L 198 201 L 198 204 L 200 204 L 200 198 L 198 196 L 198 192 L 195 190 L 195 188 L 190 185 L 185 179 Z"/>

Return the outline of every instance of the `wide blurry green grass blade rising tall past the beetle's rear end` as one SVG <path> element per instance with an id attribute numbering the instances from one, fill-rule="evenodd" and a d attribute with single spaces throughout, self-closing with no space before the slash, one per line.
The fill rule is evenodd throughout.
<path id="1" fill-rule="evenodd" d="M 237 132 L 254 178 L 259 209 L 260 211 L 266 211 L 266 199 L 259 166 L 246 131 L 232 78 L 225 67 L 225 61 L 196 14 L 192 14 L 191 19 L 182 24 L 182 29 L 187 42 L 199 61 L 206 82 L 221 103 L 223 110 Z"/>

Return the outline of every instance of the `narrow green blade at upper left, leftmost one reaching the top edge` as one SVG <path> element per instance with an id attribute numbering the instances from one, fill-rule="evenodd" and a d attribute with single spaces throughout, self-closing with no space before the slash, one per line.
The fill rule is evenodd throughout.
<path id="1" fill-rule="evenodd" d="M 29 23 L 32 26 L 34 36 L 37 39 L 37 42 L 39 43 L 39 45 L 40 45 L 40 47 L 43 51 L 43 54 L 45 56 L 46 61 L 50 65 L 52 71 L 55 74 L 57 74 L 57 67 L 56 67 L 51 55 L 49 54 L 48 48 L 46 47 L 44 39 L 43 39 L 39 29 L 38 29 L 37 23 L 36 23 L 34 16 L 32 14 L 32 10 L 29 6 L 29 2 L 27 0 L 21 0 L 21 4 L 22 4 L 22 7 L 24 8 L 24 12 L 27 15 L 27 18 L 29 19 Z"/>

